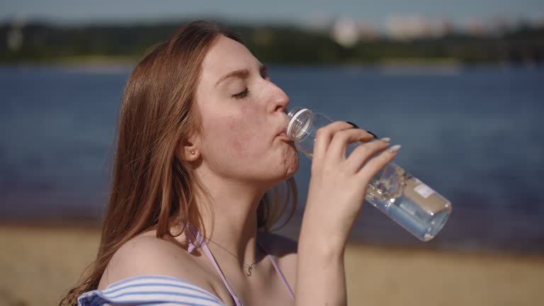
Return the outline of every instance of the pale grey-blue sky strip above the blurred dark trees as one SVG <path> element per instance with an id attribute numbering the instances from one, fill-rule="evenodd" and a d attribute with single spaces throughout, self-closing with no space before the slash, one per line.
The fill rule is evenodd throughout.
<path id="1" fill-rule="evenodd" d="M 0 21 L 18 16 L 54 23 L 132 23 L 219 17 L 242 23 L 353 18 L 380 24 L 395 16 L 470 23 L 501 17 L 544 20 L 544 0 L 0 0 Z"/>

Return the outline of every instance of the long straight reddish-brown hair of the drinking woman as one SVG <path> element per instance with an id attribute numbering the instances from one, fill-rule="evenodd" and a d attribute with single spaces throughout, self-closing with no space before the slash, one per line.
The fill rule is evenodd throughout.
<path id="1" fill-rule="evenodd" d="M 188 23 L 154 47 L 130 75 L 120 106 L 111 195 L 98 254 L 59 305 L 77 305 L 81 293 L 95 290 L 115 251 L 138 234 L 156 229 L 158 238 L 169 239 L 175 237 L 172 227 L 187 222 L 203 230 L 195 197 L 202 186 L 191 166 L 176 157 L 176 147 L 200 129 L 193 97 L 205 54 L 220 35 L 242 43 L 215 23 Z M 297 188 L 292 178 L 285 183 L 261 199 L 261 230 L 270 230 L 288 203 L 293 205 L 283 225 L 293 215 Z"/>

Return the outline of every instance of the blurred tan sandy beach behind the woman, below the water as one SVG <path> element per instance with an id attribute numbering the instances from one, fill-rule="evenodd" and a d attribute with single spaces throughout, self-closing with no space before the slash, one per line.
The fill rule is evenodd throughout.
<path id="1" fill-rule="evenodd" d="M 96 255 L 96 227 L 0 226 L 0 305 L 57 305 Z M 544 255 L 350 244 L 348 305 L 540 305 Z"/>

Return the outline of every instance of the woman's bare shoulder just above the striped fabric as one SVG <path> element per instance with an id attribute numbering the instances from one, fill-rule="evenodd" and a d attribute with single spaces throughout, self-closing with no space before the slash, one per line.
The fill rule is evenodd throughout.
<path id="1" fill-rule="evenodd" d="M 113 254 L 98 289 L 133 276 L 161 275 L 180 278 L 215 293 L 205 269 L 181 245 L 142 234 Z"/>

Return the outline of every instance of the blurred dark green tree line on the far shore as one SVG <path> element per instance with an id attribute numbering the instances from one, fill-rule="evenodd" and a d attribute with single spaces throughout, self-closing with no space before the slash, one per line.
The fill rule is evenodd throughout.
<path id="1" fill-rule="evenodd" d="M 86 57 L 136 61 L 185 23 L 57 26 L 0 24 L 0 62 L 59 62 Z M 387 60 L 456 60 L 466 63 L 544 61 L 544 28 L 523 26 L 502 35 L 449 33 L 440 38 L 359 40 L 351 47 L 328 33 L 294 26 L 226 25 L 267 63 L 351 64 Z"/>

